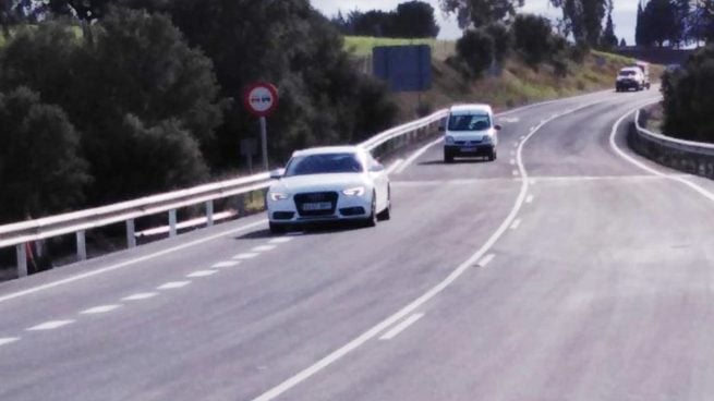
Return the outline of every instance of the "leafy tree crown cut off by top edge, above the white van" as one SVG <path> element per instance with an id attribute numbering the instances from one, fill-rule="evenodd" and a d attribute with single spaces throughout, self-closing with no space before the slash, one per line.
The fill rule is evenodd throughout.
<path id="1" fill-rule="evenodd" d="M 439 0 L 441 10 L 456 14 L 461 28 L 511 20 L 523 0 Z"/>

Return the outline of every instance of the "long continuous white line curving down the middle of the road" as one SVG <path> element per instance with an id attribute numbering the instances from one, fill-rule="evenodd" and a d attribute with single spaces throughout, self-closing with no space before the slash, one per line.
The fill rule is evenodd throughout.
<path id="1" fill-rule="evenodd" d="M 584 106 L 578 107 L 571 112 L 579 111 L 581 109 L 591 107 L 593 105 L 597 105 L 600 102 L 603 102 L 605 100 L 598 100 L 594 102 L 586 104 Z M 566 116 L 566 114 L 562 114 Z M 555 120 L 555 119 L 553 119 Z M 415 309 L 424 305 L 426 302 L 432 300 L 434 296 L 438 295 L 441 291 L 444 291 L 446 288 L 451 285 L 459 277 L 461 277 L 467 270 L 469 270 L 475 263 L 476 260 L 481 259 L 493 246 L 496 244 L 496 242 L 504 235 L 506 230 L 510 227 L 510 224 L 513 222 L 516 219 L 516 216 L 518 216 L 518 212 L 520 211 L 521 207 L 523 206 L 523 202 L 525 200 L 525 194 L 528 193 L 528 186 L 529 186 L 529 180 L 528 180 L 528 172 L 525 171 L 525 167 L 523 166 L 523 145 L 528 143 L 528 141 L 536 133 L 543 125 L 545 125 L 547 122 L 550 120 L 545 120 L 545 122 L 542 122 L 538 124 L 537 129 L 530 134 L 525 136 L 525 139 L 520 143 L 518 146 L 518 168 L 521 170 L 521 173 L 523 175 L 523 180 L 521 180 L 521 190 L 518 194 L 518 197 L 516 198 L 516 203 L 513 204 L 513 207 L 509 215 L 506 217 L 506 219 L 501 222 L 501 224 L 498 227 L 498 229 L 488 238 L 488 240 L 476 251 L 471 257 L 469 257 L 467 260 L 464 260 L 461 265 L 459 265 L 451 274 L 449 274 L 441 282 L 433 287 L 431 290 L 428 290 L 426 293 L 417 297 L 416 300 L 412 301 L 409 305 L 402 307 L 400 311 L 395 313 L 394 315 L 387 317 L 386 319 L 382 320 L 378 323 L 376 326 L 372 327 L 367 331 L 363 332 L 352 341 L 348 342 L 347 344 L 342 345 L 341 348 L 332 351 L 330 354 L 327 356 L 323 357 L 322 360 L 315 362 L 313 365 L 304 368 L 303 370 L 299 372 L 298 374 L 293 375 L 292 377 L 288 378 L 287 380 L 282 381 L 281 384 L 275 386 L 274 388 L 267 390 L 263 394 L 256 397 L 253 399 L 253 401 L 270 401 L 282 394 L 283 392 L 290 390 L 291 388 L 295 387 L 302 381 L 305 381 L 316 373 L 320 372 L 322 369 L 326 368 L 327 366 L 331 365 L 336 361 L 340 360 L 342 356 L 347 355 L 348 353 L 354 351 L 365 342 L 370 341 L 371 339 L 375 338 L 377 335 L 383 332 L 386 328 L 390 327 L 391 325 L 396 324 L 397 321 L 401 320 L 404 316 L 413 313 Z"/>

